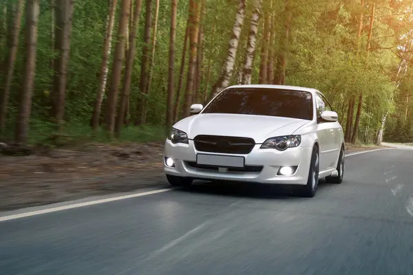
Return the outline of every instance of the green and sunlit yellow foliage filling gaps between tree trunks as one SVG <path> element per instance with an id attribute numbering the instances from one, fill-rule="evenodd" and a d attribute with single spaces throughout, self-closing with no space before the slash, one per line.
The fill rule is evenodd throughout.
<path id="1" fill-rule="evenodd" d="M 156 1 L 153 1 L 155 5 Z M 183 50 L 185 28 L 187 27 L 189 0 L 178 1 L 175 85 L 178 85 L 180 59 Z M 370 24 L 370 5 L 372 1 L 338 0 L 273 0 L 272 11 L 275 14 L 273 28 L 275 30 L 275 54 L 286 54 L 286 84 L 304 87 L 315 87 L 326 94 L 333 108 L 339 113 L 340 122 L 345 125 L 348 102 L 351 96 L 358 98 L 363 94 L 363 112 L 359 130 L 359 140 L 373 142 L 381 120 L 385 113 L 390 113 L 385 131 L 385 138 L 396 142 L 412 142 L 413 136 L 413 74 L 408 70 L 407 75 L 397 74 L 401 61 L 397 46 L 406 43 L 412 37 L 412 19 L 405 10 L 412 7 L 411 1 L 403 1 L 396 6 L 394 1 L 374 1 L 376 14 L 370 52 L 367 53 L 367 36 Z M 103 56 L 103 40 L 107 21 L 107 1 L 83 0 L 76 1 L 70 45 L 70 62 L 68 67 L 68 83 L 65 104 L 65 125 L 62 133 L 83 137 L 85 140 L 95 139 L 105 141 L 102 130 L 92 133 L 89 120 L 92 114 L 100 63 Z M 235 12 L 238 0 L 207 0 L 207 12 L 202 22 L 204 26 L 204 74 L 201 81 L 201 91 L 207 92 L 217 80 L 224 58 L 227 54 L 228 41 L 231 37 L 231 28 L 235 21 Z M 284 23 L 286 21 L 286 3 L 292 14 L 290 38 L 286 47 L 280 41 L 285 36 Z M 169 54 L 170 28 L 170 1 L 160 1 L 160 16 L 156 43 L 156 55 L 153 66 L 153 80 L 149 95 L 147 95 L 147 121 L 155 126 L 142 128 L 126 127 L 121 140 L 145 140 L 163 138 L 163 124 L 165 124 L 167 73 Z M 246 41 L 249 34 L 251 12 L 254 1 L 247 1 L 246 18 L 242 30 L 240 47 L 238 49 L 233 83 L 237 81 L 238 72 L 244 62 Z M 1 5 L 1 4 L 0 4 Z M 118 25 L 120 1 L 116 12 L 114 37 Z M 257 36 L 257 47 L 253 67 L 253 83 L 257 83 L 262 45 L 262 23 L 264 12 L 270 9 L 270 1 L 263 1 L 260 18 L 260 30 Z M 363 11 L 363 32 L 360 40 L 360 55 L 357 51 L 357 30 L 359 12 Z M 142 36 L 145 21 L 145 5 L 142 5 L 142 14 L 138 34 L 136 36 L 135 66 L 132 72 L 130 118 L 136 118 L 136 105 L 142 96 L 139 91 L 140 59 L 142 57 Z M 396 13 L 398 15 L 396 15 Z M 30 123 L 30 142 L 38 142 L 47 135 L 54 133 L 54 126 L 50 122 L 50 94 L 52 91 L 53 69 L 50 62 L 55 57 L 51 47 L 50 1 L 41 0 L 41 15 L 39 18 L 39 41 L 37 47 L 36 76 L 32 102 Z M 10 21 L 10 17 L 8 18 Z M 24 21 L 24 19 L 23 19 Z M 18 96 L 23 83 L 23 56 L 24 56 L 24 22 L 19 36 L 19 50 L 14 70 L 14 80 L 8 106 L 8 120 L 5 138 L 11 139 L 14 130 L 14 118 L 17 114 Z M 4 30 L 2 30 L 4 31 Z M 109 58 L 109 68 L 113 61 Z M 411 47 L 411 45 L 410 45 Z M 0 60 L 3 62 L 7 55 L 7 47 L 0 48 Z M 184 91 L 187 78 L 187 63 L 185 63 Z M 4 63 L 3 63 L 4 64 Z M 210 66 L 210 67 L 209 67 Z M 207 81 L 207 70 L 211 72 Z M 3 72 L 0 70 L 0 73 Z M 395 80 L 403 78 L 400 87 Z M 3 80 L 0 76 L 0 80 Z M 110 71 L 108 83 L 110 82 Z M 0 81 L 2 88 L 3 82 Z M 407 95 L 410 101 L 407 101 Z M 183 96 L 182 96 L 183 99 Z M 357 101 L 358 102 L 358 101 Z M 180 102 L 182 103 L 182 101 Z M 105 107 L 105 98 L 103 110 Z M 410 115 L 403 115 L 410 113 Z M 131 123 L 133 124 L 133 123 Z M 162 135 L 160 134 L 162 133 Z"/>

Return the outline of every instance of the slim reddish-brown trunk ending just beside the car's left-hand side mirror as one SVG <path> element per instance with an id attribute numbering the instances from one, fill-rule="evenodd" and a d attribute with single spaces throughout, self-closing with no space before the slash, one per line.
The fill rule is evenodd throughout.
<path id="1" fill-rule="evenodd" d="M 187 87 L 185 89 L 184 105 L 182 107 L 182 117 L 189 116 L 189 107 L 191 105 L 194 77 L 195 77 L 195 65 L 196 56 L 198 50 L 198 31 L 200 20 L 200 5 L 196 0 L 189 1 L 189 66 L 187 75 Z"/>

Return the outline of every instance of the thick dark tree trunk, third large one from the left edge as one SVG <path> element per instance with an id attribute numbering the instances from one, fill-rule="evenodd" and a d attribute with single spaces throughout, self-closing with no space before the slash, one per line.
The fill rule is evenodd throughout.
<path id="1" fill-rule="evenodd" d="M 67 85 L 67 63 L 70 54 L 70 35 L 72 32 L 74 0 L 56 0 L 56 28 L 54 48 L 58 52 L 54 61 L 52 115 L 60 127 L 65 112 Z"/>

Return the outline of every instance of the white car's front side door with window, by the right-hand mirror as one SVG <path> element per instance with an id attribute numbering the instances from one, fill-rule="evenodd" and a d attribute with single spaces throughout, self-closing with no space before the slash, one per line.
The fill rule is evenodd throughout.
<path id="1" fill-rule="evenodd" d="M 321 119 L 321 113 L 324 111 L 332 111 L 324 102 L 323 96 L 319 93 L 315 94 L 316 113 L 317 113 L 317 136 L 319 139 L 320 150 L 320 171 L 328 170 L 334 167 L 335 164 L 335 137 L 334 128 L 335 122 L 326 122 Z"/>

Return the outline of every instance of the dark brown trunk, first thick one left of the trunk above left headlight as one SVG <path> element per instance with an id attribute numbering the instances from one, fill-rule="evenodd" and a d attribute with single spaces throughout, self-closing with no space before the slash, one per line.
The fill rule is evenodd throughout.
<path id="1" fill-rule="evenodd" d="M 143 36 L 143 49 L 142 60 L 140 61 L 140 100 L 138 100 L 137 118 L 135 120 L 136 125 L 145 123 L 146 113 L 146 91 L 148 85 L 148 72 L 149 72 L 149 45 L 151 43 L 151 23 L 152 23 L 152 0 L 146 0 L 146 19 L 145 19 L 145 33 Z"/>

